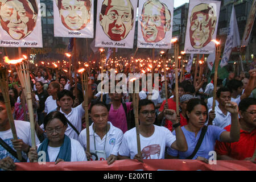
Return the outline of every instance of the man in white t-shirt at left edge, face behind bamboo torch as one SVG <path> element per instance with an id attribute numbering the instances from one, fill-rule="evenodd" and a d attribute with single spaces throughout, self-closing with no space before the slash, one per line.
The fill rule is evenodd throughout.
<path id="1" fill-rule="evenodd" d="M 14 112 L 14 100 L 10 97 L 12 112 Z M 31 130 L 30 123 L 26 121 L 14 120 L 16 128 L 16 134 L 18 139 L 13 139 L 13 133 L 11 131 L 9 118 L 7 117 L 7 110 L 5 106 L 5 100 L 3 99 L 2 93 L 0 93 L 0 137 L 6 144 L 8 144 L 15 151 L 22 151 L 23 158 L 26 159 L 27 152 L 31 146 Z M 36 144 L 39 144 L 38 137 L 36 137 Z M 26 154 L 25 154 L 26 153 Z M 10 154 L 0 144 L 0 169 L 13 170 L 15 169 L 16 162 L 19 162 L 13 155 Z"/>

